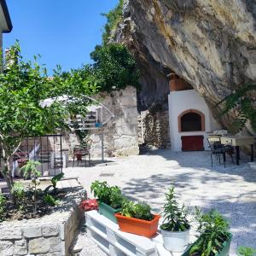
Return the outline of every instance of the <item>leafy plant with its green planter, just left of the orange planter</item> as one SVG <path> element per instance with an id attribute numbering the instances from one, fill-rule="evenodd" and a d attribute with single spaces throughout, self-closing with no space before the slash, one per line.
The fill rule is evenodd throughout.
<path id="1" fill-rule="evenodd" d="M 121 211 L 124 199 L 119 187 L 111 187 L 107 182 L 96 180 L 94 183 L 91 183 L 90 192 L 93 192 L 97 198 L 99 212 L 114 223 L 117 223 L 114 213 Z"/>

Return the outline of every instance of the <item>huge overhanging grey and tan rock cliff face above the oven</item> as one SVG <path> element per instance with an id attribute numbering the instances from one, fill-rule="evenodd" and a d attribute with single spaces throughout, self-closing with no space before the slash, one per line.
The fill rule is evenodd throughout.
<path id="1" fill-rule="evenodd" d="M 124 14 L 115 40 L 137 55 L 145 108 L 165 102 L 171 70 L 205 98 L 213 115 L 236 86 L 256 80 L 255 0 L 126 0 Z"/>

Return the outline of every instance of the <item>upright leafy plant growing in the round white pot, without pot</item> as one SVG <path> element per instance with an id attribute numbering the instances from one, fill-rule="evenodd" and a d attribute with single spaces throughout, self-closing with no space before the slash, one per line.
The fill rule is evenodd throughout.
<path id="1" fill-rule="evenodd" d="M 189 229 L 187 219 L 188 212 L 185 207 L 178 207 L 174 198 L 174 188 L 170 188 L 166 193 L 166 203 L 164 205 L 164 221 L 160 228 L 167 231 L 184 231 Z"/>

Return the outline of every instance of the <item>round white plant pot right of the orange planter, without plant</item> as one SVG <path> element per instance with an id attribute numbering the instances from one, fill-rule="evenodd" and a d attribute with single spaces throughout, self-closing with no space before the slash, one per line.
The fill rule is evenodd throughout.
<path id="1" fill-rule="evenodd" d="M 189 245 L 189 230 L 172 232 L 161 230 L 164 247 L 166 250 L 179 253 L 183 252 L 186 247 Z"/>

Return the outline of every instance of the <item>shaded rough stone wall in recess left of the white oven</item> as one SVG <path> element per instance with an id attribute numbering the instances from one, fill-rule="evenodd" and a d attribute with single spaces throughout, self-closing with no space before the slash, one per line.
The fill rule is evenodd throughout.
<path id="1" fill-rule="evenodd" d="M 155 148 L 170 148 L 169 113 L 153 105 L 138 117 L 139 143 Z"/>

